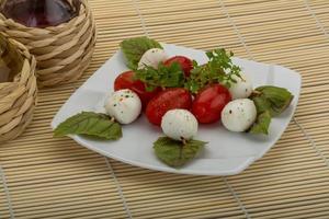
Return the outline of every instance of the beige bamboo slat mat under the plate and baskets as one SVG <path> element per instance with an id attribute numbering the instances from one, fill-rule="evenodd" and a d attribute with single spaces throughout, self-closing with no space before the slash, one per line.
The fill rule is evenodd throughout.
<path id="1" fill-rule="evenodd" d="M 0 146 L 0 218 L 329 218 L 328 0 L 90 0 L 99 36 L 76 83 L 41 90 L 35 119 Z M 299 71 L 297 112 L 276 146 L 242 174 L 177 175 L 106 159 L 49 123 L 126 37 L 237 56 Z"/>

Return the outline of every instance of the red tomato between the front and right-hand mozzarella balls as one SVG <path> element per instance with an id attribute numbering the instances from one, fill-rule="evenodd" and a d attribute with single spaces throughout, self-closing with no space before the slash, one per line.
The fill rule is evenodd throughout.
<path id="1" fill-rule="evenodd" d="M 197 93 L 192 105 L 192 113 L 198 123 L 215 123 L 220 119 L 224 106 L 230 101 L 231 96 L 227 88 L 212 84 Z"/>

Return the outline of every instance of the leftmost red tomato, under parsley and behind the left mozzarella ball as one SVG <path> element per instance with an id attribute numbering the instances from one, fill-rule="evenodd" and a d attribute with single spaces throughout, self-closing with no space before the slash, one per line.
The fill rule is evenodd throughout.
<path id="1" fill-rule="evenodd" d="M 156 89 L 152 92 L 145 90 L 145 84 L 139 80 L 134 80 L 135 72 L 126 71 L 121 73 L 114 81 L 114 91 L 129 89 L 134 91 L 140 99 L 143 106 L 146 107 L 148 102 L 160 91 Z"/>

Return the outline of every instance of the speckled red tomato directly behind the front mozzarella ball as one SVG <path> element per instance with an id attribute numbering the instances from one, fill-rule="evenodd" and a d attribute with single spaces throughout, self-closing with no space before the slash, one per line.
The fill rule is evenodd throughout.
<path id="1" fill-rule="evenodd" d="M 170 110 L 191 110 L 192 96 L 182 88 L 167 89 L 158 93 L 146 107 L 146 116 L 149 123 L 160 126 L 162 116 Z"/>

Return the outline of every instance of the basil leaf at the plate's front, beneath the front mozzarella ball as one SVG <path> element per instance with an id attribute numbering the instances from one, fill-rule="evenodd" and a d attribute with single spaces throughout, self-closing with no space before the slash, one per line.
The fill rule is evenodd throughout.
<path id="1" fill-rule="evenodd" d="M 156 155 L 167 165 L 179 168 L 191 161 L 204 148 L 206 142 L 189 140 L 185 145 L 168 137 L 154 142 Z"/>

